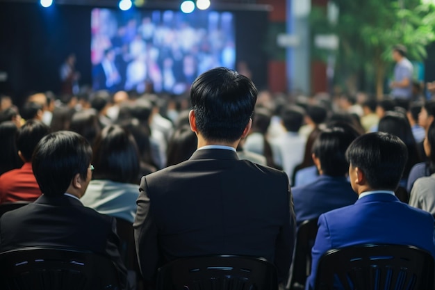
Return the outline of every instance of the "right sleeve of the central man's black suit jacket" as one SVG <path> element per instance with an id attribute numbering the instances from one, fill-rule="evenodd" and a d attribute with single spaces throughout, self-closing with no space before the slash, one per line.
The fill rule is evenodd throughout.
<path id="1" fill-rule="evenodd" d="M 293 248 L 295 245 L 296 237 L 296 220 L 295 209 L 293 207 L 293 196 L 290 191 L 288 177 L 284 172 L 283 175 L 286 180 L 286 204 L 288 204 L 288 207 L 286 207 L 285 223 L 283 227 L 281 227 L 281 231 L 279 232 L 279 236 L 277 237 L 277 242 L 275 243 L 274 264 L 277 267 L 279 282 L 284 282 L 284 280 L 288 276 L 290 264 L 293 259 Z"/>

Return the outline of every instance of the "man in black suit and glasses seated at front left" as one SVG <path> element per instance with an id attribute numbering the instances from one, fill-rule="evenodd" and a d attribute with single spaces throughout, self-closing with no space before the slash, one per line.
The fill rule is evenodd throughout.
<path id="1" fill-rule="evenodd" d="M 115 219 L 83 207 L 79 198 L 92 177 L 92 149 L 82 136 L 57 131 L 35 148 L 33 173 L 42 195 L 0 218 L 0 252 L 29 246 L 90 250 L 110 257 L 123 289 L 126 269 L 118 252 Z"/>

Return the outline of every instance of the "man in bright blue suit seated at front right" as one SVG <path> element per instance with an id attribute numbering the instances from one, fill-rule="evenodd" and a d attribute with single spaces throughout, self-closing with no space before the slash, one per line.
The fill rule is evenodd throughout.
<path id="1" fill-rule="evenodd" d="M 394 195 L 408 158 L 402 140 L 382 132 L 364 134 L 347 148 L 346 158 L 350 183 L 359 199 L 320 216 L 306 289 L 314 289 L 318 261 L 333 248 L 366 243 L 414 245 L 435 257 L 434 218 Z"/>

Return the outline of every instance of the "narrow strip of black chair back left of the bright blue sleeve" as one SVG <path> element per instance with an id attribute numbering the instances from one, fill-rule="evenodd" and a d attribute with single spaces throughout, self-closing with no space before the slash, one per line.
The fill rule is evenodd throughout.
<path id="1" fill-rule="evenodd" d="M 318 218 L 304 220 L 297 229 L 295 257 L 291 266 L 290 289 L 298 287 L 304 289 L 306 277 L 311 271 L 311 248 L 315 241 L 315 235 L 318 231 Z"/>

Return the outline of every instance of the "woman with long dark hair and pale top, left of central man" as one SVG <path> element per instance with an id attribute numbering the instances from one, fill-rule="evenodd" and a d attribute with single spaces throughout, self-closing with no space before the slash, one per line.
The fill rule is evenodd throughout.
<path id="1" fill-rule="evenodd" d="M 95 170 L 81 202 L 101 214 L 133 223 L 140 169 L 136 141 L 126 129 L 109 125 L 95 139 L 92 151 Z"/>

